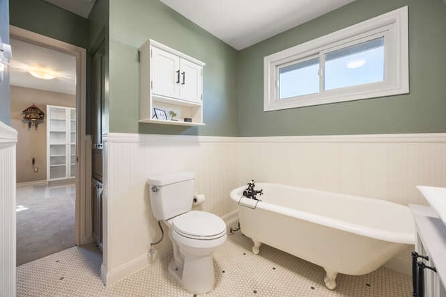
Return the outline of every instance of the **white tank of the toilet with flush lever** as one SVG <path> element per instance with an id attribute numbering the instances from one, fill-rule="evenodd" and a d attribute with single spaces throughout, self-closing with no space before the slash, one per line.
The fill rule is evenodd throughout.
<path id="1" fill-rule="evenodd" d="M 154 175 L 147 179 L 152 213 L 157 220 L 168 220 L 192 209 L 194 172 Z"/>

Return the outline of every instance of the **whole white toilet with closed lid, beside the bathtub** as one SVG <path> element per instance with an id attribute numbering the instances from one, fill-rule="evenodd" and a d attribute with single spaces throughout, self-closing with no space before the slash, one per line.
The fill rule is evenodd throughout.
<path id="1" fill-rule="evenodd" d="M 213 252 L 226 240 L 224 221 L 206 211 L 192 211 L 193 172 L 148 179 L 153 216 L 170 228 L 174 259 L 169 271 L 184 289 L 203 294 L 215 287 Z"/>

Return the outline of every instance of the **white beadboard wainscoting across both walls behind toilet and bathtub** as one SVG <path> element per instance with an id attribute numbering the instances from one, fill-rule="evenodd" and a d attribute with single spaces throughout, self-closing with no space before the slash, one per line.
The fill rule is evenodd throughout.
<path id="1" fill-rule="evenodd" d="M 250 179 L 400 204 L 426 204 L 415 189 L 418 184 L 446 186 L 446 134 L 247 138 L 108 134 L 104 141 L 102 279 L 106 284 L 147 265 L 150 243 L 160 238 L 148 200 L 146 179 L 151 175 L 196 172 L 195 192 L 206 195 L 199 209 L 218 216 L 236 210 L 229 192 Z M 160 256 L 171 251 L 167 237 L 155 246 Z M 401 255 L 390 266 L 406 271 L 402 266 L 408 259 Z"/>

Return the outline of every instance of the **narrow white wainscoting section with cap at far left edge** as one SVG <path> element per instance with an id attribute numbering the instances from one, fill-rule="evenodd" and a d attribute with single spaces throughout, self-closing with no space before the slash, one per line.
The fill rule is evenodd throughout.
<path id="1" fill-rule="evenodd" d="M 17 131 L 0 122 L 0 296 L 15 296 L 15 145 Z"/>

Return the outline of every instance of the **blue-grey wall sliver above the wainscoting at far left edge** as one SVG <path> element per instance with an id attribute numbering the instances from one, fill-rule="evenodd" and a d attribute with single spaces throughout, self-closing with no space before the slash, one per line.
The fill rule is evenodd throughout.
<path id="1" fill-rule="evenodd" d="M 1 41 L 9 44 L 9 15 L 8 0 L 0 0 L 0 37 Z M 10 89 L 9 72 L 0 81 L 0 121 L 10 125 Z"/>

